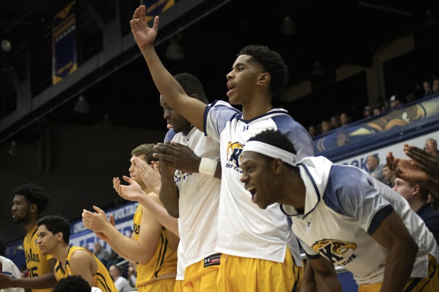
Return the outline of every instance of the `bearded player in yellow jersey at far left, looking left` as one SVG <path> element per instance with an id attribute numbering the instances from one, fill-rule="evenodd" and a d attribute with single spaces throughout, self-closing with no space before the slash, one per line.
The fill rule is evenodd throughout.
<path id="1" fill-rule="evenodd" d="M 53 274 L 56 259 L 51 255 L 43 255 L 41 253 L 37 244 L 36 224 L 40 219 L 41 212 L 46 208 L 50 196 L 44 188 L 35 183 L 22 184 L 14 189 L 12 193 L 15 194 L 12 200 L 13 221 L 23 226 L 27 231 L 23 240 L 23 248 L 29 278 L 12 279 L 14 286 L 10 287 L 32 289 L 32 292 L 51 292 L 51 288 L 56 283 Z M 0 278 L 0 288 L 6 288 L 1 283 L 2 280 Z"/>

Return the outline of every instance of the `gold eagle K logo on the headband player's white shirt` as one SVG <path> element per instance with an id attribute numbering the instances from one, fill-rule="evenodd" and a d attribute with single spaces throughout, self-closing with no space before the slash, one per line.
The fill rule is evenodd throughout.
<path id="1" fill-rule="evenodd" d="M 333 263 L 338 263 L 339 261 L 346 259 L 347 255 L 345 254 L 349 250 L 352 250 L 352 252 L 354 252 L 357 249 L 357 244 L 334 239 L 323 239 L 314 243 L 312 248 Z M 352 261 L 355 257 L 356 256 L 352 254 L 352 256 L 348 258 L 349 262 Z"/>

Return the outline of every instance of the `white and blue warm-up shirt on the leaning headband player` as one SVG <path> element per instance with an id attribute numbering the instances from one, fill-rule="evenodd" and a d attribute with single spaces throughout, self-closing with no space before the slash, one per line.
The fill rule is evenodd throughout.
<path id="1" fill-rule="evenodd" d="M 428 254 L 438 259 L 438 245 L 397 192 L 355 166 L 332 164 L 321 156 L 301 160 L 299 171 L 306 187 L 304 211 L 287 205 L 281 209 L 291 216 L 308 257 L 324 256 L 344 267 L 358 285 L 382 282 L 386 249 L 371 235 L 395 210 L 419 246 L 411 277 L 427 276 Z"/>

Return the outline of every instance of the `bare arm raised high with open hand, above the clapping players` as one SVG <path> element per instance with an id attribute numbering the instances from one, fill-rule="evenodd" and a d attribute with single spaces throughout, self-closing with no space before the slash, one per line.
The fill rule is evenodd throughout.
<path id="1" fill-rule="evenodd" d="M 164 68 L 154 49 L 154 40 L 159 29 L 159 17 L 154 19 L 154 26 L 148 27 L 146 7 L 139 6 L 130 21 L 131 32 L 148 64 L 157 89 L 169 107 L 176 109 L 194 127 L 203 131 L 203 116 L 206 105 L 195 98 L 188 98 L 180 84 Z"/>

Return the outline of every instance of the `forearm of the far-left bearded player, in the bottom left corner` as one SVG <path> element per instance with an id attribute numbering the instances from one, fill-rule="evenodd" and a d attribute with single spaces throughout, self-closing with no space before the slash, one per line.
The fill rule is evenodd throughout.
<path id="1" fill-rule="evenodd" d="M 0 289 L 24 288 L 24 289 L 48 289 L 57 283 L 54 273 L 42 274 L 33 278 L 13 279 L 0 273 Z"/>

